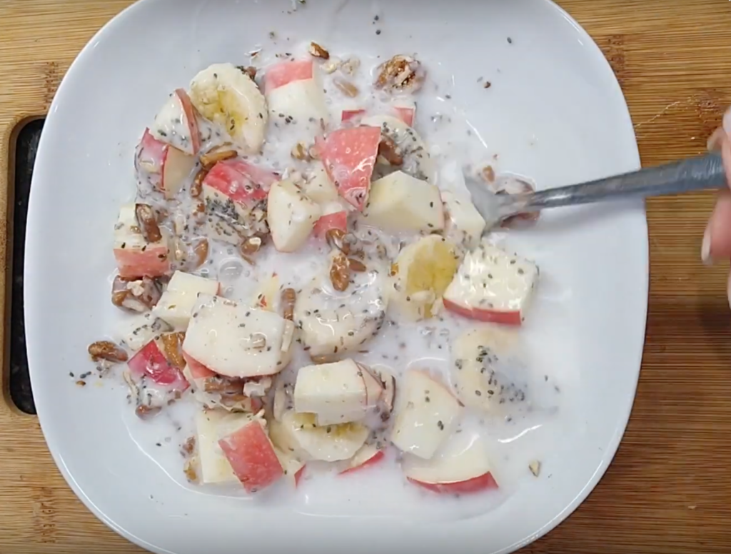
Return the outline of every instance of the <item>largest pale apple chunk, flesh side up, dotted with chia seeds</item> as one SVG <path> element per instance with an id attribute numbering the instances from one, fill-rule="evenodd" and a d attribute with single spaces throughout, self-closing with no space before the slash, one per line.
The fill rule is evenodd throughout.
<path id="1" fill-rule="evenodd" d="M 289 363 L 293 333 L 292 322 L 279 314 L 200 295 L 183 352 L 223 376 L 273 375 Z"/>

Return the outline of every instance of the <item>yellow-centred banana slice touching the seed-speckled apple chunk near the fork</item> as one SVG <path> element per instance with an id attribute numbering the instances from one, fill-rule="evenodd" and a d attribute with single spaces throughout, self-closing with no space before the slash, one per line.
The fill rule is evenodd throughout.
<path id="1" fill-rule="evenodd" d="M 429 319 L 459 266 L 456 247 L 439 235 L 406 246 L 391 265 L 390 306 L 396 316 L 416 322 Z"/>

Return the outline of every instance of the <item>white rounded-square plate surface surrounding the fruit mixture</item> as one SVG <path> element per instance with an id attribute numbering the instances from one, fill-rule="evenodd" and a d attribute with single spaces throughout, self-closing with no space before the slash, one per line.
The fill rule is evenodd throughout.
<path id="1" fill-rule="evenodd" d="M 294 5 L 299 9 L 289 13 Z M 541 187 L 639 166 L 632 123 L 605 58 L 545 0 L 141 1 L 78 56 L 39 145 L 26 247 L 26 333 L 34 398 L 53 458 L 107 525 L 161 553 L 238 553 L 275 544 L 289 552 L 316 545 L 323 553 L 390 552 L 395 544 L 436 551 L 459 544 L 462 552 L 488 554 L 531 542 L 586 498 L 629 417 L 648 284 L 642 202 L 546 213 L 539 227 L 511 238 L 542 266 L 531 319 L 550 325 L 539 328 L 536 344 L 572 400 L 569 425 L 546 449 L 541 476 L 521 482 L 480 517 L 420 521 L 386 491 L 375 500 L 389 506 L 389 517 L 374 522 L 358 516 L 357 506 L 382 493 L 368 496 L 367 487 L 355 485 L 341 487 L 333 506 L 317 505 L 315 488 L 298 492 L 292 506 L 201 493 L 167 477 L 163 470 L 171 466 L 148 454 L 175 445 L 156 450 L 130 435 L 123 388 L 80 389 L 69 378 L 69 371 L 90 368 L 86 345 L 109 330 L 111 227 L 118 205 L 133 194 L 132 154 L 142 130 L 165 94 L 212 62 L 246 63 L 245 53 L 267 42 L 270 31 L 282 43 L 319 39 L 339 50 L 419 53 L 433 75 L 450 77 L 440 94 L 463 107 L 499 153 L 501 169 L 531 175 Z"/>

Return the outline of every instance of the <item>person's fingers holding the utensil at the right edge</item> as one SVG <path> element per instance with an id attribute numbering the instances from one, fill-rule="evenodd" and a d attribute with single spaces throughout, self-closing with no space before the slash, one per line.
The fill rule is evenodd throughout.
<path id="1" fill-rule="evenodd" d="M 724 114 L 723 124 L 708 139 L 708 150 L 720 151 L 729 186 L 719 193 L 716 208 L 713 208 L 708 227 L 703 234 L 700 257 L 703 263 L 711 265 L 716 259 L 731 258 L 731 108 Z M 727 284 L 727 295 L 731 303 L 731 276 Z"/>

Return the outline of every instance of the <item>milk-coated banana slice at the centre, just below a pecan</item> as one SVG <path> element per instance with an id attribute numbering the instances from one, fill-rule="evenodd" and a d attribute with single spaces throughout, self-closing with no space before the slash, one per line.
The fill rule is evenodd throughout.
<path id="1" fill-rule="evenodd" d="M 350 273 L 342 292 L 330 282 L 329 271 L 297 295 L 295 325 L 310 357 L 336 358 L 360 349 L 383 325 L 387 277 L 382 270 Z"/>

